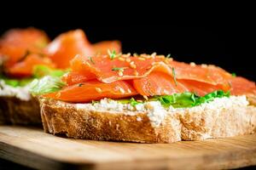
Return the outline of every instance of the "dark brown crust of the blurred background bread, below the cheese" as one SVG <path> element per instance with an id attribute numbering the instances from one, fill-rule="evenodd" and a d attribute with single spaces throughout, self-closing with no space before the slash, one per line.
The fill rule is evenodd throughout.
<path id="1" fill-rule="evenodd" d="M 40 125 L 38 99 L 21 100 L 15 96 L 0 96 L 0 124 Z"/>

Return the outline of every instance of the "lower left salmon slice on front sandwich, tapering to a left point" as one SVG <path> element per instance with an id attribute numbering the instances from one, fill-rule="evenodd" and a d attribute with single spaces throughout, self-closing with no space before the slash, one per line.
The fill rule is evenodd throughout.
<path id="1" fill-rule="evenodd" d="M 117 81 L 107 84 L 92 80 L 67 86 L 62 88 L 59 92 L 45 94 L 44 96 L 69 102 L 90 102 L 91 100 L 103 98 L 121 99 L 136 94 L 137 91 L 130 83 L 125 81 Z"/>

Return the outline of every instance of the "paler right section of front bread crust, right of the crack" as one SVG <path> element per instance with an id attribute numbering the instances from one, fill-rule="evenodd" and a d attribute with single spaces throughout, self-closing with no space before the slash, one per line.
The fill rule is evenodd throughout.
<path id="1" fill-rule="evenodd" d="M 236 106 L 222 111 L 186 111 L 180 116 L 183 140 L 225 138 L 256 132 L 256 107 Z"/>

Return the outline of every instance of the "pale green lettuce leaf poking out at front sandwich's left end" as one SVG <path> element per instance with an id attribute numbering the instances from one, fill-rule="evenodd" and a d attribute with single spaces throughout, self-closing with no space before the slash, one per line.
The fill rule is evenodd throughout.
<path id="1" fill-rule="evenodd" d="M 34 79 L 29 84 L 29 91 L 33 95 L 49 94 L 61 90 L 66 86 L 60 77 L 46 76 L 41 79 Z"/>

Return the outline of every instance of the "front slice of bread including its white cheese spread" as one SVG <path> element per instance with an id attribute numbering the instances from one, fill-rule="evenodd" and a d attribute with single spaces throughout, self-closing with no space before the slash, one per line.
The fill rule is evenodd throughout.
<path id="1" fill-rule="evenodd" d="M 129 105 L 105 105 L 102 101 L 92 105 L 39 100 L 44 131 L 75 139 L 172 143 L 256 131 L 256 107 L 248 106 L 245 96 L 168 110 L 150 102 L 142 104 L 143 109 L 129 109 Z"/>

